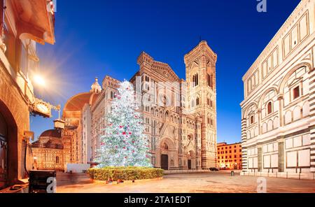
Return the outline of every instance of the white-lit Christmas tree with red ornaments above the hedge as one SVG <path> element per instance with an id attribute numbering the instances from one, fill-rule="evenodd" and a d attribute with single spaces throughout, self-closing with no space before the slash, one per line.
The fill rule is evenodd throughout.
<path id="1" fill-rule="evenodd" d="M 120 83 L 118 95 L 112 101 L 106 117 L 107 127 L 98 150 L 98 167 L 151 166 L 144 123 L 139 113 L 131 83 Z"/>

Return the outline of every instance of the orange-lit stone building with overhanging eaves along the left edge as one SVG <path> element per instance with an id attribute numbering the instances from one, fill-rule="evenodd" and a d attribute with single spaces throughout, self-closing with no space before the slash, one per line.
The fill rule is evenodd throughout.
<path id="1" fill-rule="evenodd" d="M 47 0 L 0 1 L 0 190 L 27 178 L 32 167 L 29 115 L 36 97 L 31 75 L 38 71 L 36 43 L 55 43 L 55 15 L 49 8 Z"/>

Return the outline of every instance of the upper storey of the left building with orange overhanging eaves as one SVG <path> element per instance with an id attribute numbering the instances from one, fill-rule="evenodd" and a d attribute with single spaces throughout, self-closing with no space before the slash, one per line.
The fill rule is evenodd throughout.
<path id="1" fill-rule="evenodd" d="M 55 15 L 49 0 L 0 0 L 0 61 L 26 100 L 34 101 L 29 72 L 36 69 L 36 43 L 55 43 Z M 3 10 L 5 8 L 5 10 Z M 2 22 L 2 20 L 5 22 Z"/>

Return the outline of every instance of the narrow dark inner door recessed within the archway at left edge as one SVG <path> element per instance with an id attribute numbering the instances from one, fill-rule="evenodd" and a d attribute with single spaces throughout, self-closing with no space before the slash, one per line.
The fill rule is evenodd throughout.
<path id="1" fill-rule="evenodd" d="M 8 184 L 8 126 L 0 112 L 0 190 Z"/>

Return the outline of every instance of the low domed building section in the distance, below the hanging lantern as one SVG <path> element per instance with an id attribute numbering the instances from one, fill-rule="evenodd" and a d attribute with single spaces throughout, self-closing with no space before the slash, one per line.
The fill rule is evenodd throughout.
<path id="1" fill-rule="evenodd" d="M 38 140 L 31 144 L 31 151 L 34 169 L 64 171 L 64 144 L 61 130 L 44 131 Z"/>

